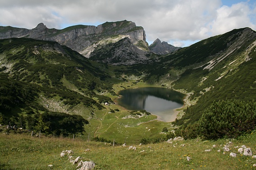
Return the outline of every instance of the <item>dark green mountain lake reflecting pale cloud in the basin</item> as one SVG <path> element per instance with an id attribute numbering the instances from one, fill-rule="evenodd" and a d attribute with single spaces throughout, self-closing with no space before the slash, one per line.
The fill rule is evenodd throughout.
<path id="1" fill-rule="evenodd" d="M 167 88 L 144 87 L 138 89 L 124 89 L 118 104 L 128 110 L 146 110 L 164 122 L 176 119 L 175 109 L 183 106 L 184 94 Z"/>

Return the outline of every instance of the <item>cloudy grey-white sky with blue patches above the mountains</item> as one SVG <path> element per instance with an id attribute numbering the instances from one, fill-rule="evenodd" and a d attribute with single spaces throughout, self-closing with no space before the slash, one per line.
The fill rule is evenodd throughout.
<path id="1" fill-rule="evenodd" d="M 256 0 L 0 0 L 0 26 L 63 29 L 132 21 L 176 47 L 250 27 L 256 30 Z"/>

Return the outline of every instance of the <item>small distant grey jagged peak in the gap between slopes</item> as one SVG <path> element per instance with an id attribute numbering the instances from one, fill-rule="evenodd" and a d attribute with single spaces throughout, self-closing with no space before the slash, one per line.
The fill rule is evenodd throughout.
<path id="1" fill-rule="evenodd" d="M 159 55 L 165 55 L 180 49 L 181 47 L 174 47 L 166 42 L 161 42 L 158 38 L 149 46 L 150 52 Z"/>

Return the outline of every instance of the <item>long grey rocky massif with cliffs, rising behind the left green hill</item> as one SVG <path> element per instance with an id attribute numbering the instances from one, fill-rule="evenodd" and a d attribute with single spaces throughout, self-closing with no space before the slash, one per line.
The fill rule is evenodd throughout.
<path id="1" fill-rule="evenodd" d="M 144 29 L 126 20 L 106 22 L 99 26 L 77 25 L 62 30 L 49 29 L 43 23 L 31 30 L 0 26 L 0 39 L 5 38 L 55 41 L 78 51 L 87 58 L 93 55 L 93 59 L 97 61 L 102 60 L 97 57 L 106 58 L 107 55 L 109 59 L 102 62 L 115 65 L 145 62 L 148 60 L 146 55 L 149 53 Z M 118 48 L 115 49 L 116 46 Z M 98 53 L 102 52 L 101 48 L 107 50 L 108 47 L 113 48 L 107 54 Z M 112 62 L 113 59 L 116 61 Z"/>

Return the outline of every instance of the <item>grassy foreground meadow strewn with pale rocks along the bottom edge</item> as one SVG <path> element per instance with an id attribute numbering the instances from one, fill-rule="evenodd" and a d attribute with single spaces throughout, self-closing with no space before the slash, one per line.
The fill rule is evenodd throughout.
<path id="1" fill-rule="evenodd" d="M 230 152 L 223 154 L 224 144 L 232 142 Z M 185 144 L 185 146 L 181 146 Z M 216 148 L 212 148 L 215 144 Z M 1 170 L 75 170 L 76 165 L 68 161 L 68 156 L 60 157 L 62 150 L 73 150 L 73 157 L 83 157 L 83 161 L 94 161 L 95 170 L 244 170 L 256 169 L 256 159 L 238 154 L 235 146 L 246 145 L 256 155 L 256 133 L 239 140 L 221 139 L 217 141 L 183 140 L 160 144 L 112 146 L 101 142 L 69 138 L 41 138 L 24 134 L 0 134 Z M 90 151 L 86 152 L 86 149 Z M 212 149 L 205 152 L 206 149 Z M 221 149 L 221 152 L 217 152 Z M 230 153 L 237 157 L 230 157 Z M 187 161 L 187 156 L 191 157 Z"/>

